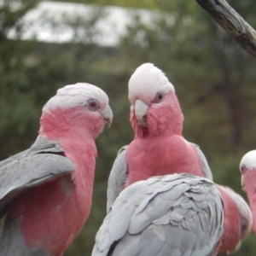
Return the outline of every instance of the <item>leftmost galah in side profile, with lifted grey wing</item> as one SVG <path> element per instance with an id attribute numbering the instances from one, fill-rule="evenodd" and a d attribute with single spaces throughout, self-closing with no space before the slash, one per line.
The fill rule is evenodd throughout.
<path id="1" fill-rule="evenodd" d="M 90 213 L 95 139 L 110 124 L 108 96 L 72 84 L 44 105 L 38 138 L 0 166 L 0 255 L 61 256 Z"/>

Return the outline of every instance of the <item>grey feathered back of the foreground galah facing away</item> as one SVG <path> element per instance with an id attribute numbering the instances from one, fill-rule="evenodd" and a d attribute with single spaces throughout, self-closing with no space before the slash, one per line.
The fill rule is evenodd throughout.
<path id="1" fill-rule="evenodd" d="M 217 255 L 224 209 L 211 180 L 185 173 L 150 177 L 124 189 L 92 256 Z"/>

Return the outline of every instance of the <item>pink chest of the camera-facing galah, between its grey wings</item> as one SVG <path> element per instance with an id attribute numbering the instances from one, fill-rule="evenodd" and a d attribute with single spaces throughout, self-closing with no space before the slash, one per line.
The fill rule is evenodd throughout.
<path id="1" fill-rule="evenodd" d="M 127 149 L 129 183 L 175 172 L 189 172 L 191 152 L 183 140 L 163 137 L 133 141 Z"/>

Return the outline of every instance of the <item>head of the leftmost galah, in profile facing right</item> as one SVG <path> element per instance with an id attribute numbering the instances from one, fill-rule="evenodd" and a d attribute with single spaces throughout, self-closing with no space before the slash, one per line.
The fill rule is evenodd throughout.
<path id="1" fill-rule="evenodd" d="M 75 136 L 85 132 L 96 138 L 112 119 L 103 90 L 92 84 L 72 84 L 59 89 L 44 105 L 39 133 L 58 138 L 63 133 Z"/>

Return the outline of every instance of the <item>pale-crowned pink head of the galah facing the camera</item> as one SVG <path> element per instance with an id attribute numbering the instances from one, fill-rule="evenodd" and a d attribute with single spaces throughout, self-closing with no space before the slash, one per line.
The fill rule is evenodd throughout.
<path id="1" fill-rule="evenodd" d="M 183 113 L 165 73 L 145 63 L 131 75 L 128 86 L 131 126 L 138 136 L 181 134 Z"/>

